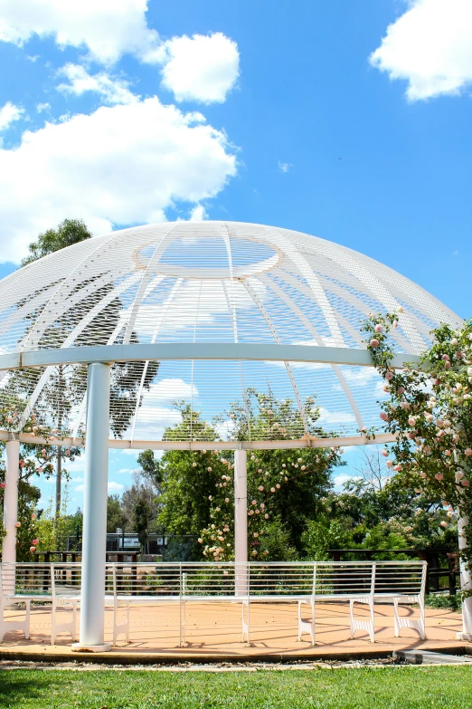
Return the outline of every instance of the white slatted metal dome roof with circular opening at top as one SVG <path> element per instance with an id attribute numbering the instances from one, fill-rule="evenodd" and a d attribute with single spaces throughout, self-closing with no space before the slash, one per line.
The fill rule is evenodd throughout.
<path id="1" fill-rule="evenodd" d="M 85 365 L 113 361 L 117 446 L 168 447 L 185 407 L 173 446 L 201 436 L 189 411 L 227 442 L 358 436 L 379 423 L 383 396 L 360 326 L 399 306 L 398 352 L 419 354 L 439 322 L 460 324 L 401 274 L 315 236 L 235 222 L 113 232 L 0 282 L 0 406 L 16 408 L 18 431 L 37 412 L 83 436 Z M 264 400 L 291 402 L 290 420 L 256 426 Z"/>

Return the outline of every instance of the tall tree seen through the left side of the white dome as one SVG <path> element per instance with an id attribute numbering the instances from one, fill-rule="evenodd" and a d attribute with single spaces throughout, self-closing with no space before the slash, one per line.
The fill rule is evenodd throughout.
<path id="1" fill-rule="evenodd" d="M 80 219 L 64 219 L 56 229 L 48 229 L 43 234 L 40 234 L 35 242 L 29 245 L 29 255 L 22 261 L 21 267 L 28 266 L 37 259 L 52 254 L 62 248 L 79 244 L 81 241 L 90 239 L 91 232 Z M 105 272 L 104 265 L 104 272 Z M 45 340 L 52 338 L 56 342 L 56 346 L 60 347 L 61 343 L 66 340 L 68 335 L 74 330 L 79 319 L 85 318 L 96 302 L 105 299 L 113 289 L 112 283 L 102 283 L 94 290 L 94 299 L 90 301 L 87 294 L 90 292 L 90 287 L 93 282 L 99 283 L 103 273 L 97 273 L 77 286 L 77 290 L 82 290 L 84 296 L 73 305 L 73 311 L 67 308 L 59 315 L 44 332 Z M 34 295 L 34 293 L 32 294 Z M 67 304 L 67 303 L 66 303 Z M 18 303 L 19 306 L 22 303 Z M 122 302 L 118 297 L 113 298 L 107 305 L 97 313 L 96 317 L 90 319 L 87 326 L 75 338 L 75 344 L 86 345 L 90 343 L 90 334 L 93 335 L 93 342 L 96 345 L 107 344 L 112 332 L 115 331 L 117 323 L 122 311 Z M 37 312 L 30 313 L 28 319 L 32 326 L 35 321 Z M 119 339 L 117 340 L 119 341 Z M 131 332 L 131 343 L 137 342 L 136 332 Z M 140 391 L 140 399 L 150 387 L 153 378 L 158 369 L 157 362 L 118 362 L 115 363 L 110 371 L 110 427 L 115 436 L 122 436 L 123 432 L 130 424 L 132 417 L 135 414 L 138 392 Z M 27 372 L 15 372 L 10 378 L 7 389 L 21 399 L 24 392 L 31 393 L 32 388 L 40 382 L 42 371 L 40 369 L 28 370 Z M 34 409 L 43 411 L 53 420 L 53 427 L 57 438 L 61 439 L 69 435 L 70 416 L 74 411 L 74 407 L 80 407 L 84 398 L 84 391 L 87 381 L 87 368 L 77 365 L 60 365 L 53 368 L 48 378 L 46 379 L 41 393 L 38 396 Z M 141 387 L 142 381 L 142 387 Z M 23 405 L 24 406 L 24 405 Z M 20 407 L 21 410 L 21 407 Z M 63 458 L 80 455 L 80 448 L 64 450 L 64 447 L 58 445 L 51 453 L 48 454 L 48 461 L 52 458 L 56 461 L 56 500 L 55 500 L 55 518 L 57 520 L 61 512 L 61 479 L 62 475 L 67 474 L 67 470 L 63 470 Z"/>

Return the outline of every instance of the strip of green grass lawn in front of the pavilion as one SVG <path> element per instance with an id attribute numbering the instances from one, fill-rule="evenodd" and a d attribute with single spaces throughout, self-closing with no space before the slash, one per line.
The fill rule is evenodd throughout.
<path id="1" fill-rule="evenodd" d="M 470 709 L 472 667 L 234 672 L 10 670 L 11 709 Z"/>

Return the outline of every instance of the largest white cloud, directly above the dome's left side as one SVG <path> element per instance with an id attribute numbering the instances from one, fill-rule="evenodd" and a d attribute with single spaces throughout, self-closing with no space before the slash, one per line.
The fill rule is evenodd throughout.
<path id="1" fill-rule="evenodd" d="M 32 237 L 80 216 L 94 234 L 165 220 L 176 201 L 216 196 L 236 173 L 222 131 L 200 113 L 156 97 L 25 131 L 0 149 L 2 258 L 17 262 Z"/>

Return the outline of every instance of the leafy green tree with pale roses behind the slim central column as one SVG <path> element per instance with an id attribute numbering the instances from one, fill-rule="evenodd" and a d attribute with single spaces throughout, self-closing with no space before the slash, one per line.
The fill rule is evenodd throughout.
<path id="1" fill-rule="evenodd" d="M 215 428 L 199 412 L 177 402 L 182 421 L 165 430 L 165 439 L 181 440 L 192 430 L 195 440 L 218 440 Z M 235 402 L 225 417 L 236 438 L 245 436 L 250 417 L 254 437 L 299 438 L 304 423 L 290 399 L 250 390 L 246 402 Z M 321 432 L 314 398 L 307 398 L 305 419 Z M 258 451 L 248 461 L 249 533 L 252 559 L 288 559 L 301 549 L 307 520 L 316 516 L 319 498 L 329 490 L 335 465 L 343 465 L 334 449 Z M 167 532 L 200 534 L 203 556 L 215 560 L 234 553 L 234 485 L 231 452 L 166 451 L 161 462 L 162 497 L 159 522 Z M 269 545 L 269 538 L 276 540 Z M 265 540 L 268 540 L 266 543 Z M 270 549 L 269 549 L 270 547 Z M 274 556 L 275 555 L 275 556 Z"/>

